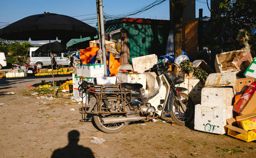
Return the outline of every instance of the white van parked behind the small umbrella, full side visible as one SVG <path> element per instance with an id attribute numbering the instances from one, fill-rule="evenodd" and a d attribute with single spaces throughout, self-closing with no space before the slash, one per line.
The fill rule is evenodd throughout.
<path id="1" fill-rule="evenodd" d="M 38 47 L 29 47 L 27 50 L 27 62 L 29 65 L 34 65 L 36 64 L 38 68 L 42 68 L 42 66 L 49 66 L 51 65 L 51 55 L 50 52 L 47 53 L 35 53 L 34 51 Z M 57 62 L 57 65 L 69 65 L 70 59 L 66 58 L 68 57 L 68 52 L 58 52 L 54 53 L 55 60 Z"/>

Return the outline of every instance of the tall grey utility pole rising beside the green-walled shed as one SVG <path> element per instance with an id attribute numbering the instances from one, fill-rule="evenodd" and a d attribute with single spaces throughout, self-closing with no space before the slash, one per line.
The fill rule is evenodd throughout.
<path id="1" fill-rule="evenodd" d="M 102 0 L 96 0 L 97 11 L 99 13 L 98 24 L 100 34 L 100 45 L 102 49 L 102 58 L 104 64 L 104 76 L 108 76 L 108 70 L 106 69 L 106 46 L 105 46 L 105 30 L 104 30 L 104 19 L 103 19 L 103 2 Z"/>

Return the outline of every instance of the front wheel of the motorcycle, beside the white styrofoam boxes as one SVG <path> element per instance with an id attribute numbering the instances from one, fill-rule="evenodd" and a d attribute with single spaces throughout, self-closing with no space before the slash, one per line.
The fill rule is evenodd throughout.
<path id="1" fill-rule="evenodd" d="M 172 111 L 170 111 L 170 117 L 172 117 L 173 121 L 178 125 L 186 125 L 189 124 L 194 118 L 194 103 L 185 93 L 180 93 L 180 99 L 182 103 L 185 104 L 186 111 L 182 111 L 179 100 L 174 98 Z"/>

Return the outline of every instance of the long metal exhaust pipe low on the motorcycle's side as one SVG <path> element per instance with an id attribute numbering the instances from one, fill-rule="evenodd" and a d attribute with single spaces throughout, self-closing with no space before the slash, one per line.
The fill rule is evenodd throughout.
<path id="1" fill-rule="evenodd" d="M 146 119 L 146 117 L 141 116 L 130 116 L 130 117 L 110 117 L 110 118 L 102 118 L 103 124 L 110 124 L 110 123 L 120 123 L 120 122 L 132 122 L 132 121 L 139 121 Z"/>

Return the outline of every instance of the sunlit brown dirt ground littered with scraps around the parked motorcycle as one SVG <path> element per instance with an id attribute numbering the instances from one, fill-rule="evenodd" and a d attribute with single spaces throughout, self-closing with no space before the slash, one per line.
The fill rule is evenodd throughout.
<path id="1" fill-rule="evenodd" d="M 0 106 L 0 157 L 256 156 L 255 141 L 204 133 L 194 130 L 193 124 L 135 122 L 120 133 L 102 133 L 91 120 L 82 120 L 81 104 L 72 102 L 69 93 L 59 93 L 55 99 L 51 92 L 47 98 L 32 95 L 34 88 L 27 86 L 36 82 L 0 79 L 0 103 L 4 103 Z M 94 137 L 105 142 L 94 144 Z"/>

